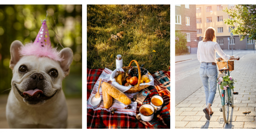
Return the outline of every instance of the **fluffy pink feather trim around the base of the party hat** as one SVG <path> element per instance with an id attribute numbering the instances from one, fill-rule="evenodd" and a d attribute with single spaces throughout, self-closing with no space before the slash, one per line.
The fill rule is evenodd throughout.
<path id="1" fill-rule="evenodd" d="M 37 56 L 37 57 L 49 57 L 55 61 L 63 61 L 63 57 L 58 55 L 57 48 L 52 47 L 41 47 L 41 45 L 29 43 L 24 47 L 21 47 L 19 53 L 23 56 Z"/>

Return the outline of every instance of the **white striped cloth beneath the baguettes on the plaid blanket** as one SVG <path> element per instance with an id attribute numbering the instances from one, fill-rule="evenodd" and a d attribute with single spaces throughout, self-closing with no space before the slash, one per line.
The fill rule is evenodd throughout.
<path id="1" fill-rule="evenodd" d="M 122 68 L 121 68 L 122 69 Z M 115 113 L 124 113 L 124 114 L 130 114 L 132 116 L 136 116 L 136 108 L 137 108 L 137 102 L 134 101 L 134 102 L 131 102 L 130 106 L 131 106 L 131 109 L 124 109 L 125 107 L 127 107 L 128 105 L 125 105 L 121 102 L 119 102 L 118 100 L 114 99 L 113 98 L 113 104 L 110 108 L 106 109 L 104 107 L 104 103 L 103 103 L 103 97 L 102 97 L 102 90 L 101 90 L 101 86 L 100 86 L 100 90 L 99 90 L 99 93 L 101 95 L 101 104 L 99 107 L 97 106 L 92 106 L 90 105 L 90 98 L 92 97 L 93 94 L 96 94 L 97 91 L 98 91 L 98 87 L 99 87 L 99 82 L 100 82 L 100 79 L 101 79 L 101 83 L 102 82 L 108 82 L 109 84 L 112 84 L 112 82 L 110 81 L 110 75 L 113 71 L 109 70 L 108 68 L 105 68 L 104 71 L 102 72 L 102 74 L 100 75 L 99 79 L 97 80 L 96 84 L 94 85 L 93 87 L 93 91 L 92 93 L 90 94 L 90 97 L 87 101 L 87 108 L 90 108 L 90 109 L 93 109 L 94 111 L 95 110 L 100 110 L 100 109 L 104 109 L 108 112 L 111 112 L 110 109 L 111 108 L 116 108 L 117 111 L 115 111 Z M 114 82 L 114 81 L 113 81 Z M 119 88 L 117 88 L 119 89 Z M 119 89 L 120 90 L 120 89 Z M 120 90 L 122 92 L 125 92 L 124 90 Z M 138 94 L 137 93 L 124 93 L 128 98 L 132 99 L 133 98 L 133 95 L 136 95 Z"/>

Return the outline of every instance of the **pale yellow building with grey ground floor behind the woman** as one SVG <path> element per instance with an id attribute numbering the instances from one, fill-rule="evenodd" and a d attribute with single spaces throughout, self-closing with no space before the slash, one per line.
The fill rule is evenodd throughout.
<path id="1" fill-rule="evenodd" d="M 213 27 L 216 31 L 216 41 L 221 49 L 236 49 L 236 50 L 253 50 L 254 40 L 245 38 L 240 41 L 239 35 L 234 35 L 233 40 L 230 38 L 230 28 L 236 28 L 231 25 L 224 24 L 224 19 L 232 19 L 227 13 L 222 11 L 225 8 L 236 9 L 235 4 L 220 4 L 220 5 L 196 5 L 196 27 L 197 27 L 197 42 L 199 37 L 203 38 L 204 32 L 208 27 Z"/>

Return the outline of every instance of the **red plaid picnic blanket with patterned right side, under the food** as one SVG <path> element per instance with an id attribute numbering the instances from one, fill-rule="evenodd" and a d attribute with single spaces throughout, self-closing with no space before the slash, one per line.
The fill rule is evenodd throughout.
<path id="1" fill-rule="evenodd" d="M 103 70 L 87 69 L 87 100 Z M 164 80 L 161 79 L 161 75 L 163 75 L 162 79 Z M 154 114 L 152 121 L 144 122 L 137 120 L 135 116 L 129 114 L 112 114 L 105 110 L 93 111 L 93 109 L 87 109 L 87 129 L 170 129 L 170 72 L 157 71 L 152 76 L 154 79 L 158 79 L 154 82 L 156 87 L 148 87 L 151 94 L 148 95 L 143 104 L 150 104 L 150 98 L 153 95 L 158 95 L 160 89 L 166 88 L 168 90 L 169 86 L 169 94 L 168 91 L 161 91 L 164 93 L 164 104 L 162 110 Z M 137 114 L 139 113 L 140 106 L 141 104 L 137 104 Z"/>

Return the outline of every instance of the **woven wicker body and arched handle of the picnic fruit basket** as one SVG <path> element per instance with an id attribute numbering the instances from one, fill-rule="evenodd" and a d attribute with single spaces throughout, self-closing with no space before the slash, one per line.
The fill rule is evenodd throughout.
<path id="1" fill-rule="evenodd" d="M 124 71 L 127 71 L 129 69 L 131 69 L 133 66 L 131 66 L 131 63 L 135 62 L 137 67 L 138 67 L 138 72 L 139 72 L 139 79 L 138 81 L 141 81 L 141 68 L 139 66 L 139 63 L 135 60 L 132 60 L 129 64 L 129 66 L 127 67 L 122 67 Z M 151 75 L 149 72 L 148 72 L 149 75 Z M 137 86 L 133 86 L 131 87 L 129 90 L 125 91 L 125 93 L 135 93 L 135 92 L 139 92 L 141 90 L 143 90 L 144 88 L 147 88 L 149 85 L 137 85 Z"/>

